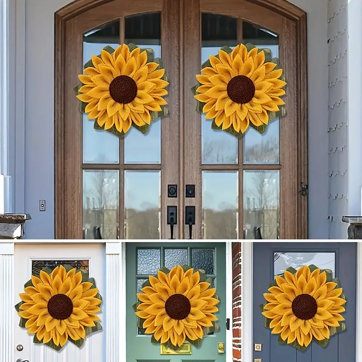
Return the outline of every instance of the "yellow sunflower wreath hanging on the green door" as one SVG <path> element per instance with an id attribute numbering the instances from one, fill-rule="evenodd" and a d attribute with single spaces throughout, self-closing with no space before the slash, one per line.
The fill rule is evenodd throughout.
<path id="1" fill-rule="evenodd" d="M 199 346 L 203 336 L 219 329 L 219 296 L 205 270 L 177 265 L 149 276 L 133 309 L 139 328 L 152 334 L 151 342 L 176 350 L 186 341 Z"/>

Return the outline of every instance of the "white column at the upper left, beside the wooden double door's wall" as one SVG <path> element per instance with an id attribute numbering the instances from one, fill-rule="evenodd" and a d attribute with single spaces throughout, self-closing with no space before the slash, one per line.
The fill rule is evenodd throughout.
<path id="1" fill-rule="evenodd" d="M 0 1 L 0 214 L 11 210 L 9 176 L 9 0 Z"/>

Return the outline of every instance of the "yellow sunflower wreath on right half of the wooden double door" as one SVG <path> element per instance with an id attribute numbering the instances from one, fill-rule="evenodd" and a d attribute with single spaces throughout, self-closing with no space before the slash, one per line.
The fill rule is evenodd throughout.
<path id="1" fill-rule="evenodd" d="M 197 111 L 212 119 L 211 128 L 240 136 L 249 126 L 261 134 L 272 119 L 285 115 L 285 76 L 270 49 L 248 43 L 224 46 L 202 64 L 192 88 Z"/>

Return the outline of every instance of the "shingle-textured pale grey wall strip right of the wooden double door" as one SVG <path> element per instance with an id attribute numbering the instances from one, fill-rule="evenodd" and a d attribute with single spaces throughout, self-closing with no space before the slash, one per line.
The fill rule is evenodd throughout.
<path id="1" fill-rule="evenodd" d="M 360 0 L 358 0 L 360 1 Z M 328 1 L 328 220 L 329 238 L 346 239 L 348 214 L 348 8 Z"/>

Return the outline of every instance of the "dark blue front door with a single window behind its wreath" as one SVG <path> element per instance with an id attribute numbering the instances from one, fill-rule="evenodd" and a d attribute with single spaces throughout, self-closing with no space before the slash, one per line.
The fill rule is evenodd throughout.
<path id="1" fill-rule="evenodd" d="M 327 347 L 312 342 L 304 351 L 278 343 L 278 335 L 264 327 L 260 304 L 265 302 L 263 293 L 275 275 L 289 267 L 316 265 L 331 269 L 333 277 L 340 279 L 347 303 L 346 331 L 330 337 Z M 254 243 L 253 244 L 253 358 L 262 362 L 352 362 L 356 354 L 356 272 L 357 244 L 342 243 Z M 282 275 L 281 275 L 282 276 Z M 255 351 L 254 344 L 261 344 Z"/>

